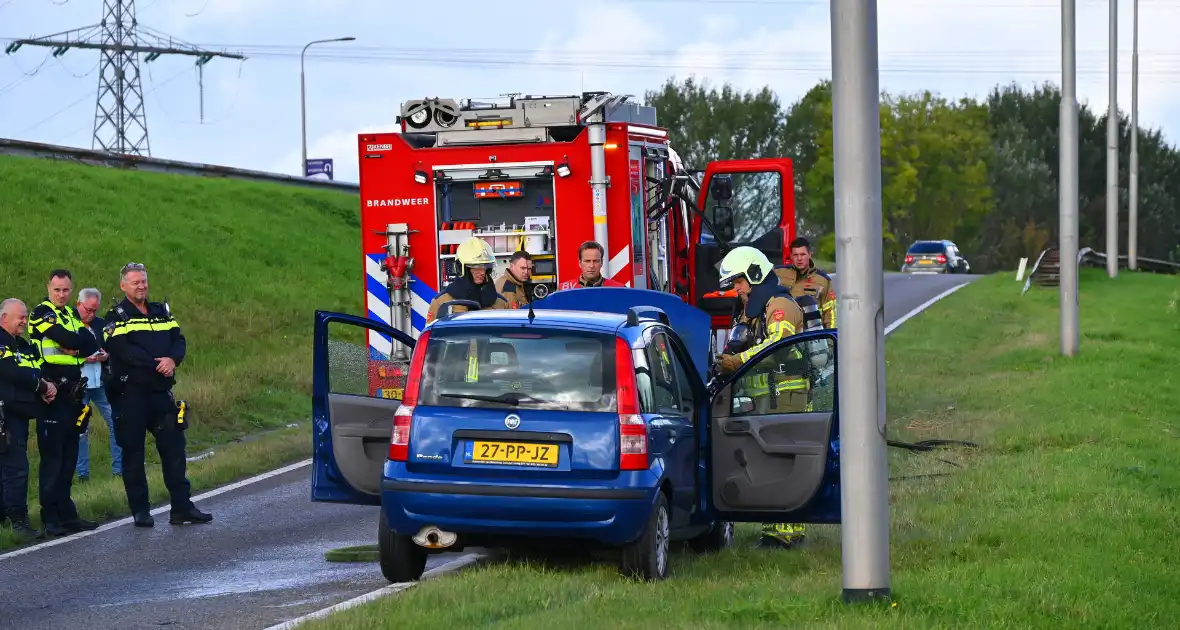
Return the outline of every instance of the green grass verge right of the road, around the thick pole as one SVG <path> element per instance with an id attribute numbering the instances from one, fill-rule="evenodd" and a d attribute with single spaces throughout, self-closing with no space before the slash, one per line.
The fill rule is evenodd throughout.
<path id="1" fill-rule="evenodd" d="M 497 562 L 306 628 L 1172 625 L 1180 282 L 1083 270 L 1074 359 L 1058 354 L 1057 291 L 1020 287 L 982 278 L 886 344 L 891 437 L 981 445 L 891 452 L 894 477 L 952 473 L 890 484 L 896 606 L 839 602 L 838 527 L 767 552 L 742 526 L 735 549 L 677 554 L 660 584 L 605 563 Z"/>

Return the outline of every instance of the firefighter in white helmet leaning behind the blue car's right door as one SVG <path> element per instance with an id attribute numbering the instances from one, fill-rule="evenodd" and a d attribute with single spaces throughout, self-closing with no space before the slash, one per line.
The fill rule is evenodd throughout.
<path id="1" fill-rule="evenodd" d="M 734 316 L 729 343 L 717 357 L 721 374 L 735 372 L 763 348 L 802 332 L 802 309 L 791 297 L 791 291 L 775 280 L 774 264 L 752 247 L 734 248 L 721 261 L 720 288 L 733 288 L 741 302 L 741 308 Z M 798 353 L 792 350 L 792 354 Z M 801 355 L 789 359 L 801 359 Z M 754 372 L 756 373 L 742 376 L 739 386 L 754 399 L 755 413 L 807 409 L 809 382 L 806 376 L 758 369 Z M 800 524 L 765 523 L 761 544 L 791 549 L 802 542 L 804 536 L 805 530 Z"/>

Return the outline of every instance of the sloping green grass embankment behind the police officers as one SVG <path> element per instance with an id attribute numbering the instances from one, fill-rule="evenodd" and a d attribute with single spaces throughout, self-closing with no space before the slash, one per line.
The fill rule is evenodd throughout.
<path id="1" fill-rule="evenodd" d="M 50 270 L 68 268 L 74 294 L 123 298 L 119 269 L 148 265 L 153 300 L 168 298 L 189 342 L 176 393 L 191 405 L 194 493 L 309 453 L 312 313 L 355 313 L 360 273 L 355 195 L 234 179 L 122 171 L 0 156 L 0 293 L 30 308 Z M 349 280 L 342 282 L 341 278 Z M 352 282 L 352 280 L 356 280 Z M 302 422 L 250 444 L 244 435 Z M 126 516 L 111 477 L 106 425 L 91 422 L 91 481 L 74 485 L 84 517 Z M 215 448 L 216 447 L 216 448 Z M 152 500 L 166 500 L 149 438 Z M 30 506 L 37 517 L 37 445 Z M 0 530 L 0 549 L 12 545 Z"/>

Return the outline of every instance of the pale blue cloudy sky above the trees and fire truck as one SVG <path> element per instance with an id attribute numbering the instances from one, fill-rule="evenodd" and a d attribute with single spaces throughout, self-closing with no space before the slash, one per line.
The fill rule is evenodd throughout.
<path id="1" fill-rule="evenodd" d="M 1108 103 L 1109 5 L 1077 2 L 1079 100 Z M 1139 120 L 1180 137 L 1180 0 L 1139 0 Z M 142 63 L 151 155 L 301 173 L 300 50 L 308 158 L 358 181 L 356 134 L 395 131 L 404 100 L 500 94 L 634 94 L 695 76 L 769 85 L 785 105 L 831 78 L 826 0 L 137 0 L 140 38 L 241 53 Z M 558 9 L 557 7 L 564 6 Z M 1132 1 L 1119 7 L 1119 105 L 1130 109 Z M 100 0 L 0 0 L 0 38 L 96 25 Z M 983 97 L 997 83 L 1061 79 L 1055 0 L 879 0 L 880 86 Z M 0 44 L 7 41 L 0 39 Z M 0 59 L 0 137 L 92 146 L 96 51 L 25 46 Z M 789 157 L 789 156 L 788 156 Z M 702 165 L 703 166 L 703 165 Z"/>

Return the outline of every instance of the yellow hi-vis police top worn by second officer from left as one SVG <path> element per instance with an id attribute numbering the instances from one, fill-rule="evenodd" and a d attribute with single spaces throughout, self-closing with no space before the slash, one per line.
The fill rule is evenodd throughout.
<path id="1" fill-rule="evenodd" d="M 28 314 L 28 339 L 45 361 L 41 373 L 46 379 L 59 382 L 65 379 L 72 383 L 81 380 L 83 363 L 98 352 L 98 342 L 83 330 L 85 326 L 72 306 L 57 307 L 46 300 L 33 307 Z M 67 354 L 67 350 L 76 350 L 76 354 Z"/>

